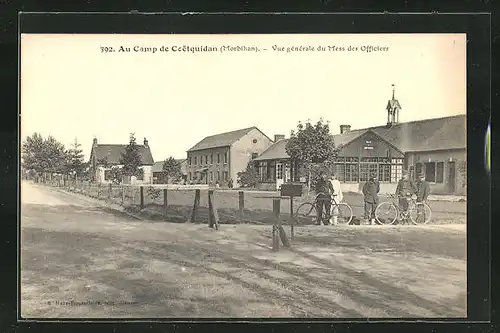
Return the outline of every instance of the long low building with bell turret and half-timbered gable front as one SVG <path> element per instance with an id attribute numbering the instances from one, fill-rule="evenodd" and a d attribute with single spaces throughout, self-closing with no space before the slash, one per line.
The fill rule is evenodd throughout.
<path id="1" fill-rule="evenodd" d="M 351 130 L 340 126 L 334 135 L 338 149 L 333 172 L 344 191 L 359 192 L 370 175 L 377 175 L 381 192 L 394 192 L 403 169 L 416 178 L 424 173 L 434 194 L 465 195 L 467 191 L 466 116 L 399 123 L 401 106 L 393 97 L 387 105 L 386 125 Z M 255 159 L 259 188 L 275 189 L 284 181 L 299 181 L 290 175 L 286 139 L 278 141 Z"/>

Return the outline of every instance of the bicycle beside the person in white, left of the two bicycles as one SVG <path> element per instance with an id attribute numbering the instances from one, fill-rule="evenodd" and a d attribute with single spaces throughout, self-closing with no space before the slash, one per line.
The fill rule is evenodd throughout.
<path id="1" fill-rule="evenodd" d="M 295 217 L 298 225 L 307 225 L 307 224 L 316 224 L 318 217 L 318 210 L 316 209 L 319 200 L 318 197 L 323 195 L 323 193 L 318 193 L 314 198 L 314 201 L 304 202 L 302 203 L 295 212 Z M 352 223 L 353 213 L 352 208 L 348 204 L 344 202 L 337 203 L 335 198 L 332 197 L 330 199 L 331 209 L 330 211 L 334 211 L 333 216 L 337 216 L 338 224 L 346 224 L 349 225 Z M 323 209 L 321 222 L 328 223 L 330 221 L 330 217 L 332 217 L 331 212 Z"/>

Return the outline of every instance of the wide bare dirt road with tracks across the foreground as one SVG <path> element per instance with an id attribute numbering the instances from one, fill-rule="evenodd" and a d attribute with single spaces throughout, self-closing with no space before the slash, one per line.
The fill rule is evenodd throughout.
<path id="1" fill-rule="evenodd" d="M 23 317 L 460 317 L 465 226 L 140 222 L 22 184 Z"/>

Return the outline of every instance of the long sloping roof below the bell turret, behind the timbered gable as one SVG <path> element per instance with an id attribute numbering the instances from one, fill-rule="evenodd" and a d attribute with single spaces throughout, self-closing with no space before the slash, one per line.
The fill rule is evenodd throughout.
<path id="1" fill-rule="evenodd" d="M 395 124 L 392 127 L 378 126 L 352 130 L 344 134 L 335 134 L 333 135 L 335 146 L 341 148 L 369 131 L 372 131 L 403 153 L 465 149 L 467 147 L 465 115 L 417 120 Z M 285 151 L 287 141 L 288 139 L 278 141 L 254 160 L 265 161 L 290 158 Z"/>

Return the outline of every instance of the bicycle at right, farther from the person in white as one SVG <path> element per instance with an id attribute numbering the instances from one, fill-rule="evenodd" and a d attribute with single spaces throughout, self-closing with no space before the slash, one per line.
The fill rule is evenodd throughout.
<path id="1" fill-rule="evenodd" d="M 406 196 L 408 208 L 401 211 L 398 197 L 390 195 L 393 201 L 384 201 L 375 209 L 375 219 L 379 224 L 395 224 L 399 219 L 401 224 L 411 221 L 412 224 L 427 224 L 431 220 L 432 210 L 426 202 L 417 202 L 414 196 Z"/>

